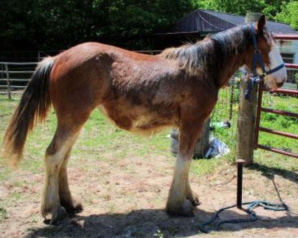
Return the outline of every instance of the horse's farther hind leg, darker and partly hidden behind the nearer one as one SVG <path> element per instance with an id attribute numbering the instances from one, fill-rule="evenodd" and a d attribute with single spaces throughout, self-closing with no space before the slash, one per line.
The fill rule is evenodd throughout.
<path id="1" fill-rule="evenodd" d="M 68 184 L 68 176 L 67 176 L 67 164 L 69 158 L 71 156 L 72 148 L 68 150 L 65 155 L 64 161 L 60 167 L 59 171 L 59 198 L 60 204 L 65 208 L 68 214 L 79 213 L 83 210 L 81 203 L 77 203 L 74 201 L 69 184 Z"/>

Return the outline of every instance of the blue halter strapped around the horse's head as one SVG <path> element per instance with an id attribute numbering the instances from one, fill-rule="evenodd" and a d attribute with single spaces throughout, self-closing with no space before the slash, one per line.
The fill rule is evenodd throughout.
<path id="1" fill-rule="evenodd" d="M 260 66 L 261 66 L 261 69 L 263 71 L 263 74 L 260 75 L 260 76 L 265 76 L 265 75 L 274 73 L 274 72 L 280 70 L 281 68 L 285 67 L 285 64 L 282 63 L 281 65 L 279 65 L 279 66 L 277 66 L 273 69 L 270 69 L 268 71 L 265 70 L 265 65 L 264 65 L 264 62 L 262 60 L 260 49 L 258 48 L 257 37 L 256 37 L 255 29 L 254 29 L 254 26 L 253 26 L 252 22 L 250 23 L 250 28 L 251 28 L 251 32 L 252 32 L 253 46 L 255 48 L 255 53 L 254 53 L 253 58 L 252 58 L 252 69 L 251 69 L 251 71 L 253 73 L 256 72 L 257 62 L 259 62 Z"/>

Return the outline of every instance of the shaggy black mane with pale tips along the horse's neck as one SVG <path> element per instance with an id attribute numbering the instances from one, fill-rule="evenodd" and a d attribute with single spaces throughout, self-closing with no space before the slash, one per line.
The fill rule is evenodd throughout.
<path id="1" fill-rule="evenodd" d="M 206 72 L 206 67 L 219 69 L 251 44 L 250 26 L 241 25 L 210 35 L 195 44 L 166 49 L 160 55 L 178 62 L 190 75 L 196 75 Z"/>

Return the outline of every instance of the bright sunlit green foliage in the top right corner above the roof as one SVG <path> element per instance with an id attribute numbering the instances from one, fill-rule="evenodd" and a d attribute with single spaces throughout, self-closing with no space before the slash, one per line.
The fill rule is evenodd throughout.
<path id="1" fill-rule="evenodd" d="M 294 29 L 298 30 L 298 1 L 291 0 L 290 2 L 284 2 L 281 12 L 279 12 L 275 19 L 289 24 Z"/>

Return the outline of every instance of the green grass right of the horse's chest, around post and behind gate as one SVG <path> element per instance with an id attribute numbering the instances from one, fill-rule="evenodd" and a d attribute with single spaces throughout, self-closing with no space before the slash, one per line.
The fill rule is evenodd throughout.
<path id="1" fill-rule="evenodd" d="M 219 104 L 216 106 L 215 121 L 222 121 L 228 118 L 229 111 L 227 108 L 229 105 L 225 102 L 224 96 L 225 92 L 221 92 Z M 264 93 L 262 102 L 262 105 L 265 108 L 298 113 L 298 98 L 276 96 L 269 93 Z M 233 163 L 236 159 L 235 151 L 237 144 L 237 113 L 238 106 L 235 103 L 233 105 L 233 118 L 230 121 L 232 125 L 231 128 L 219 128 L 213 133 L 216 137 L 224 141 L 224 143 L 226 143 L 231 149 L 231 153 L 224 156 L 224 159 L 231 163 Z M 296 118 L 284 117 L 271 113 L 262 113 L 260 126 L 298 134 L 298 119 Z M 259 143 L 293 153 L 298 153 L 298 141 L 292 138 L 260 132 Z M 254 163 L 258 166 L 252 166 L 251 168 L 253 169 L 270 171 L 283 176 L 289 176 L 289 172 L 298 171 L 298 163 L 296 158 L 272 153 L 262 149 L 257 149 L 254 151 Z M 294 176 L 294 179 L 298 180 L 297 175 L 290 173 L 290 176 Z"/>

